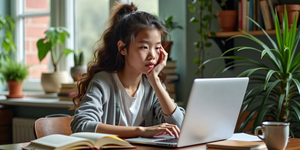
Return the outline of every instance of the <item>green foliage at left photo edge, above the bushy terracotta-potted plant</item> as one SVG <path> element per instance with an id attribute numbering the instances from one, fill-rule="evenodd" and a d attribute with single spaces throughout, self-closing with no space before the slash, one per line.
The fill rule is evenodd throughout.
<path id="1" fill-rule="evenodd" d="M 2 33 L 0 35 L 0 45 L 2 46 L 2 49 L 0 49 L 0 60 L 3 59 L 5 61 L 7 58 L 10 58 L 10 50 L 16 51 L 16 45 L 12 36 L 14 27 L 14 21 L 10 16 L 0 15 L 0 33 Z"/>

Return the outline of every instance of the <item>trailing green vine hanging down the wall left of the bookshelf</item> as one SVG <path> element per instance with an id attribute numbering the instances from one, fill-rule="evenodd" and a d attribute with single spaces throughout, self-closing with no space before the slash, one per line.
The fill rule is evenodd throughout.
<path id="1" fill-rule="evenodd" d="M 215 14 L 212 13 L 212 0 L 193 0 L 191 4 L 188 4 L 190 12 L 194 13 L 194 16 L 190 19 L 190 23 L 198 24 L 199 27 L 196 32 L 199 34 L 199 39 L 194 42 L 196 46 L 195 51 L 198 52 L 198 57 L 193 59 L 194 64 L 197 65 L 195 74 L 200 74 L 203 77 L 203 69 L 205 68 L 202 65 L 198 67 L 205 60 L 205 47 L 211 47 L 211 42 L 208 41 L 208 36 L 214 37 L 215 32 L 211 32 L 211 20 L 212 18 L 217 18 Z M 196 11 L 197 9 L 199 11 Z"/>

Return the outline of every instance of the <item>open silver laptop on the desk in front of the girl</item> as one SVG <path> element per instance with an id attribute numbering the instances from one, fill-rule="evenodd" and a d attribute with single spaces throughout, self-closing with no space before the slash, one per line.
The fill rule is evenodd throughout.
<path id="1" fill-rule="evenodd" d="M 127 139 L 130 143 L 183 147 L 232 137 L 249 78 L 195 79 L 179 138 Z"/>

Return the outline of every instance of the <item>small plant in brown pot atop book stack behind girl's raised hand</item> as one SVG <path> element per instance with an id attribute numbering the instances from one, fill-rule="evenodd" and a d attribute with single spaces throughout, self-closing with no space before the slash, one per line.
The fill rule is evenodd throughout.
<path id="1" fill-rule="evenodd" d="M 169 30 L 169 32 L 174 29 L 183 29 L 182 26 L 179 26 L 176 21 L 173 21 L 173 16 L 169 16 L 161 20 L 161 23 Z M 167 39 L 162 38 L 161 45 L 164 46 L 165 51 L 169 54 L 171 53 L 171 46 L 173 41 L 167 41 Z M 170 57 L 168 57 L 170 59 Z"/>

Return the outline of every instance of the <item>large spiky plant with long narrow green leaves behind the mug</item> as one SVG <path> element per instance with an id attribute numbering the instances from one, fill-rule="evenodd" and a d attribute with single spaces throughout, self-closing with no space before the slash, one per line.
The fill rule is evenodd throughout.
<path id="1" fill-rule="evenodd" d="M 221 57 L 209 59 L 203 62 L 203 64 L 216 59 L 234 59 L 234 61 L 225 64 L 217 70 L 217 73 L 220 73 L 220 75 L 231 67 L 251 67 L 237 76 L 247 76 L 250 78 L 249 83 L 255 85 L 254 88 L 246 92 L 242 105 L 242 114 L 245 111 L 249 111 L 250 113 L 241 123 L 237 132 L 241 132 L 254 118 L 252 132 L 255 127 L 259 126 L 264 120 L 281 121 L 291 123 L 290 135 L 292 137 L 300 137 L 300 53 L 297 52 L 297 46 L 300 40 L 300 26 L 298 27 L 298 30 L 296 29 L 298 16 L 295 16 L 294 22 L 289 28 L 287 12 L 285 9 L 282 21 L 283 33 L 281 33 L 277 12 L 275 11 L 276 13 L 274 13 L 274 10 L 271 10 L 275 22 L 277 44 L 257 22 L 248 17 L 250 21 L 262 30 L 271 42 L 272 47 L 268 47 L 267 44 L 263 43 L 253 35 L 241 31 L 244 35 L 235 35 L 229 39 L 235 37 L 248 38 L 259 44 L 261 48 L 256 49 L 254 47 L 246 46 L 234 47 L 224 52 Z M 266 57 L 267 60 L 271 62 L 271 65 L 247 57 L 223 56 L 225 53 L 236 49 L 238 51 L 250 49 L 259 52 L 259 57 Z M 226 65 L 230 64 L 231 66 L 226 67 Z M 201 67 L 201 65 L 199 67 Z M 255 114 L 257 114 L 256 117 Z"/>

